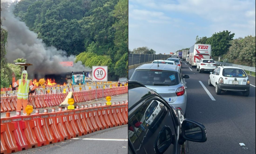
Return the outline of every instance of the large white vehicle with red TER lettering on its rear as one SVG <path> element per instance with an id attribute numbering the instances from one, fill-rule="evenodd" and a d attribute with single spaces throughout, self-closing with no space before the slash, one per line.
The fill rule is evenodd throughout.
<path id="1" fill-rule="evenodd" d="M 189 64 L 196 67 L 200 59 L 211 59 L 210 44 L 194 44 L 189 48 Z"/>

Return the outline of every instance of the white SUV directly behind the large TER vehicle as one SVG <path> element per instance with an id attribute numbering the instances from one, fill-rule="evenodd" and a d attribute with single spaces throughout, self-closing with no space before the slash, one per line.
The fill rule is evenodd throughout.
<path id="1" fill-rule="evenodd" d="M 213 71 L 216 68 L 216 63 L 213 59 L 200 59 L 196 63 L 196 71 L 199 71 L 199 73 L 202 73 L 202 71 Z"/>

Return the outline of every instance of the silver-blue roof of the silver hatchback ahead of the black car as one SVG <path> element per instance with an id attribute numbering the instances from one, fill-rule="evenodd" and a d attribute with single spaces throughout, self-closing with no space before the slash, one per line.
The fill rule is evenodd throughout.
<path id="1" fill-rule="evenodd" d="M 178 72 L 177 68 L 178 65 L 166 65 L 166 64 L 159 64 L 159 67 L 157 66 L 157 63 L 150 63 L 150 64 L 143 64 L 137 67 L 135 70 L 166 70 L 166 71 L 176 71 Z"/>

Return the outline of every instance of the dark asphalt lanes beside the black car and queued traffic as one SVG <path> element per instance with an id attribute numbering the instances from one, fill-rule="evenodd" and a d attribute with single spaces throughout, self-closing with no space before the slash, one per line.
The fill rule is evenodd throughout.
<path id="1" fill-rule="evenodd" d="M 208 86 L 209 72 L 199 74 L 185 62 L 182 72 L 190 76 L 186 79 L 186 118 L 204 124 L 207 131 L 205 143 L 189 142 L 189 154 L 255 154 L 255 78 L 249 76 L 252 86 L 248 97 L 234 91 L 217 95 L 215 87 Z"/>

